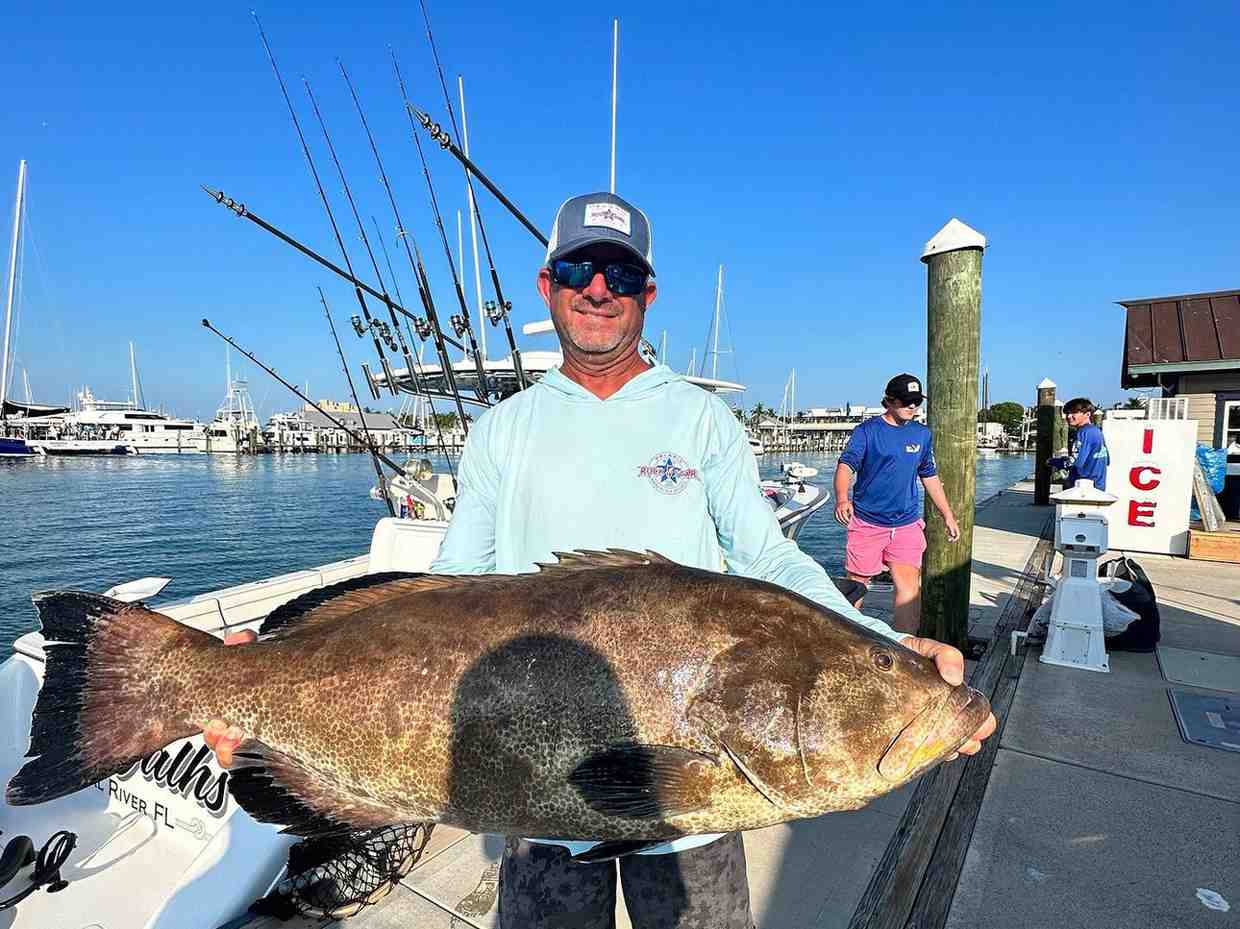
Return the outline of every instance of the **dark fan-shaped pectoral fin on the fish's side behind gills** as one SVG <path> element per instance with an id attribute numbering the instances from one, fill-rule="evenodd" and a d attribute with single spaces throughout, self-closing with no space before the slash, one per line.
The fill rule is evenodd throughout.
<path id="1" fill-rule="evenodd" d="M 709 801 L 714 755 L 673 745 L 621 744 L 595 752 L 568 775 L 590 809 L 626 819 L 662 819 Z"/>

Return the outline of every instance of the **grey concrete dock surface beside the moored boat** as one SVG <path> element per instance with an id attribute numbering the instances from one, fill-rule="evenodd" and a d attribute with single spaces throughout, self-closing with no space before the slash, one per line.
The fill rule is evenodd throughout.
<path id="1" fill-rule="evenodd" d="M 1032 482 L 978 507 L 971 638 L 990 636 L 1052 515 L 1033 505 Z M 1205 654 L 1215 690 L 1204 692 L 1226 697 L 1218 687 L 1230 685 L 1240 701 L 1240 671 L 1211 657 L 1236 657 L 1230 664 L 1240 667 L 1240 566 L 1132 557 L 1154 585 L 1162 646 Z M 889 598 L 873 592 L 866 611 L 888 616 Z M 1156 654 L 1111 652 L 1110 673 L 1043 665 L 1038 654 L 1029 646 L 946 925 L 1240 927 L 1240 753 L 1180 738 Z M 745 833 L 758 927 L 848 927 L 913 789 L 856 812 Z M 351 923 L 489 929 L 501 850 L 496 836 L 439 826 L 402 886 Z M 622 902 L 616 925 L 630 925 Z"/>

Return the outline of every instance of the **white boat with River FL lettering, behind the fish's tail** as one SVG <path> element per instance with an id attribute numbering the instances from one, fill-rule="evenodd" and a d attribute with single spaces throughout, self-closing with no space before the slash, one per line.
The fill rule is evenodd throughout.
<path id="1" fill-rule="evenodd" d="M 378 521 L 370 552 L 279 577 L 202 593 L 157 609 L 195 629 L 223 635 L 259 625 L 280 604 L 341 580 L 387 571 L 427 571 L 448 528 L 450 485 L 445 475 L 418 481 L 425 518 Z M 126 602 L 154 597 L 167 578 L 143 578 L 104 590 Z M 30 719 L 42 685 L 43 636 L 17 639 L 0 665 L 0 779 L 25 762 Z M 37 806 L 0 802 L 0 830 L 10 843 L 0 871 L 15 861 L 0 897 L 33 887 L 5 913 L 5 929 L 100 927 L 184 929 L 221 927 L 273 888 L 284 873 L 295 837 L 254 821 L 228 794 L 200 736 L 176 742 L 126 771 L 69 796 Z M 36 872 L 24 848 L 58 863 L 55 877 Z M 63 853 L 63 861 L 60 855 Z M 410 862 L 412 863 L 412 862 Z M 2 874 L 0 874 L 2 877 Z M 56 882 L 56 893 L 35 887 Z M 63 883 L 61 883 L 63 882 Z M 118 892 L 117 888 L 124 888 Z M 2 903 L 0 903 L 2 905 Z"/>

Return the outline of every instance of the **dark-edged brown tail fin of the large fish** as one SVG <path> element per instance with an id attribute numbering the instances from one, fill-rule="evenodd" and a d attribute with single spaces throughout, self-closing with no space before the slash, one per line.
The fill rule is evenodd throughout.
<path id="1" fill-rule="evenodd" d="M 35 594 L 47 664 L 31 721 L 30 750 L 5 798 L 55 800 L 119 774 L 191 736 L 187 687 L 162 667 L 186 651 L 222 647 L 138 604 L 93 593 Z"/>

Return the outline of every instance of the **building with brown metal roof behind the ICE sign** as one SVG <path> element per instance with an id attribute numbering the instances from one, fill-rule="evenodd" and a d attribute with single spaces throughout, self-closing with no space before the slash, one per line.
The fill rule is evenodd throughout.
<path id="1" fill-rule="evenodd" d="M 1120 300 L 1125 387 L 1187 397 L 1197 438 L 1240 455 L 1240 290 Z"/>

